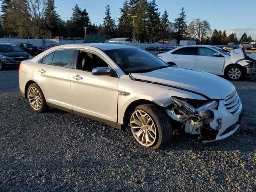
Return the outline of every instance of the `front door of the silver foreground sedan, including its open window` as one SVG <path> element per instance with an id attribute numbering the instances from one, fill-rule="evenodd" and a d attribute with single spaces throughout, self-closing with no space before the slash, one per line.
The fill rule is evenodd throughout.
<path id="1" fill-rule="evenodd" d="M 95 76 L 92 69 L 109 67 L 100 56 L 79 51 L 76 69 L 71 69 L 71 97 L 75 114 L 117 122 L 118 77 Z"/>

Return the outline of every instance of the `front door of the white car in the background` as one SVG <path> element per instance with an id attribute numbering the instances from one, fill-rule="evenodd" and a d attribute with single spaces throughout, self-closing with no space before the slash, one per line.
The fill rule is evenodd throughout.
<path id="1" fill-rule="evenodd" d="M 214 56 L 216 51 L 207 47 L 197 47 L 196 70 L 213 74 L 222 73 L 224 56 Z"/>

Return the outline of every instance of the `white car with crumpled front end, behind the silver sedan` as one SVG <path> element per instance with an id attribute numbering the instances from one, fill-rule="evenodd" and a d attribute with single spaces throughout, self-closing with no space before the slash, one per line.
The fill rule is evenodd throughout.
<path id="1" fill-rule="evenodd" d="M 228 53 L 222 48 L 208 45 L 182 46 L 158 54 L 158 57 L 171 65 L 226 76 L 229 80 L 240 80 L 244 75 L 254 72 L 253 62 L 256 62 L 256 56 L 252 54 L 248 54 L 252 60 L 245 58 L 241 47 Z"/>

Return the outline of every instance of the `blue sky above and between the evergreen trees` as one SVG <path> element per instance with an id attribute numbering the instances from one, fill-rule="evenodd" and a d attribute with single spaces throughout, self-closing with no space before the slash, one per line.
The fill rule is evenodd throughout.
<path id="1" fill-rule="evenodd" d="M 86 8 L 92 23 L 100 24 L 107 4 L 113 18 L 120 16 L 123 0 L 55 0 L 62 19 L 70 18 L 75 3 L 80 8 Z M 234 31 L 238 38 L 246 32 L 256 39 L 256 0 L 156 0 L 156 4 L 161 14 L 164 10 L 168 11 L 170 22 L 178 17 L 180 9 L 184 7 L 188 23 L 200 18 L 207 20 L 212 30 L 227 30 L 228 34 Z"/>

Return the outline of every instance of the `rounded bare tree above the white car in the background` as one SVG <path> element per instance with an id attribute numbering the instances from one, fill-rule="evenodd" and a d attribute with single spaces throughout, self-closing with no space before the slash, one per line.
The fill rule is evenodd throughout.
<path id="1" fill-rule="evenodd" d="M 198 40 L 200 44 L 203 40 L 207 38 L 212 32 L 210 24 L 206 20 L 193 19 L 192 22 L 188 25 L 187 34 Z"/>

